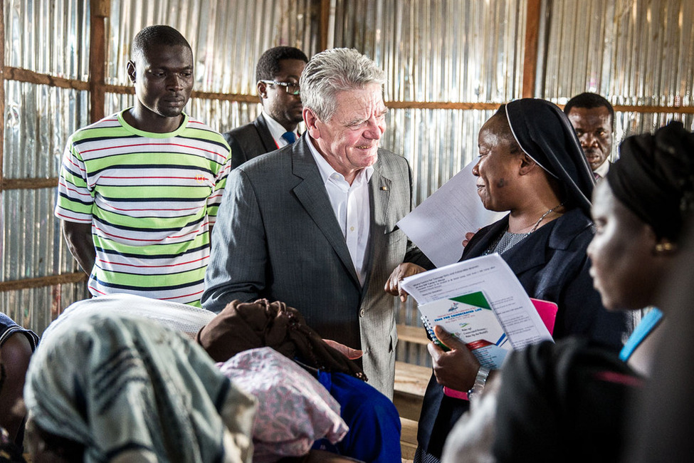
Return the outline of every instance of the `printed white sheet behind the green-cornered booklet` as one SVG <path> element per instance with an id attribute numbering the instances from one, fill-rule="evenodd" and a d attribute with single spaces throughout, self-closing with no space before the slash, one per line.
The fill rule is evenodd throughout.
<path id="1" fill-rule="evenodd" d="M 499 254 L 409 276 L 400 286 L 420 305 L 482 291 L 514 349 L 552 340 L 530 297 Z"/>

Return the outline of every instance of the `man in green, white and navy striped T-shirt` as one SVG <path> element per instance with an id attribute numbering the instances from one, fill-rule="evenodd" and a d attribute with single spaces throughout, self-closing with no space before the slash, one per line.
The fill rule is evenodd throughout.
<path id="1" fill-rule="evenodd" d="M 193 52 L 181 33 L 149 26 L 131 53 L 135 105 L 70 136 L 56 217 L 93 296 L 199 306 L 229 147 L 183 113 Z"/>

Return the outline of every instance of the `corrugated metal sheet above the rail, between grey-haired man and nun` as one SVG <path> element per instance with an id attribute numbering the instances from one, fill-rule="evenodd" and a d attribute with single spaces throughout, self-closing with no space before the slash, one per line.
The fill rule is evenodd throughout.
<path id="1" fill-rule="evenodd" d="M 385 99 L 499 102 L 521 95 L 526 1 L 337 0 L 333 46 L 388 74 Z"/>

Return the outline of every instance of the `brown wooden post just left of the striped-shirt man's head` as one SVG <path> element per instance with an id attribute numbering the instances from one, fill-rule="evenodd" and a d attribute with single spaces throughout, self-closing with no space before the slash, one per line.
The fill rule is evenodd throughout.
<path id="1" fill-rule="evenodd" d="M 89 31 L 89 103 L 90 122 L 104 117 L 106 102 L 106 24 L 111 9 L 110 0 L 90 0 Z"/>

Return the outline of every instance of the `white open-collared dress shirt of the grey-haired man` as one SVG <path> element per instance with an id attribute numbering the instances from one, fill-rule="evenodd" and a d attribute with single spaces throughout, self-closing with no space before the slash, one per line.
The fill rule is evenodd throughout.
<path id="1" fill-rule="evenodd" d="M 322 157 L 313 145 L 314 140 L 307 136 L 308 147 L 318 165 L 327 196 L 330 198 L 332 210 L 337 217 L 337 223 L 345 236 L 352 264 L 357 271 L 359 283 L 364 286 L 367 270 L 364 268 L 367 245 L 369 244 L 369 228 L 371 225 L 371 208 L 369 207 L 369 180 L 374 173 L 374 167 L 369 166 L 360 170 L 350 185 L 345 176 L 337 172 Z"/>

